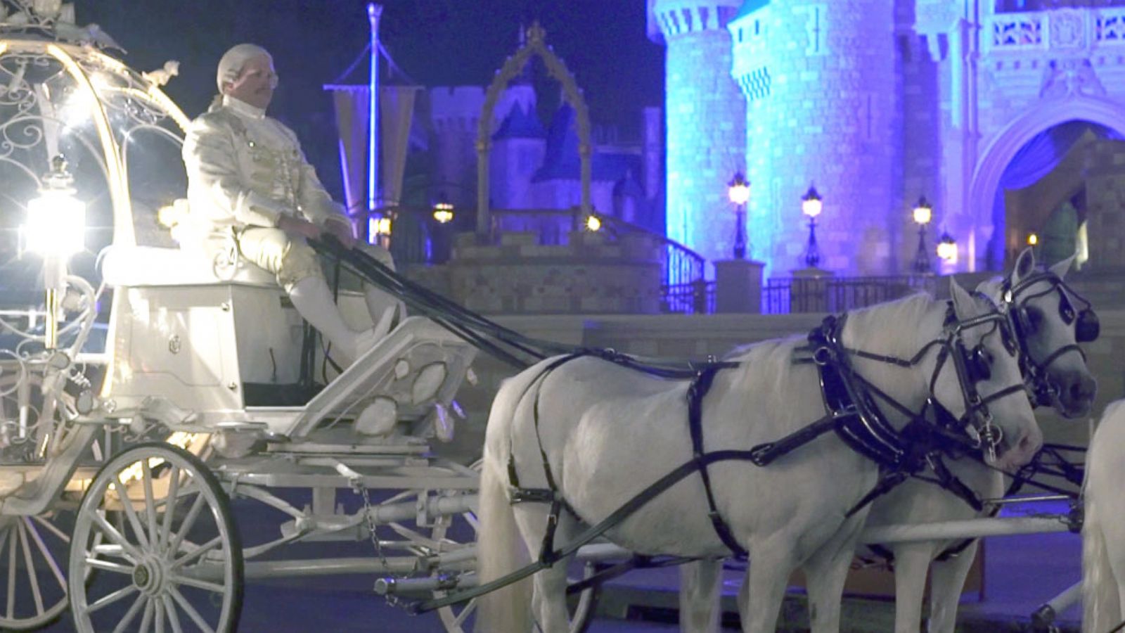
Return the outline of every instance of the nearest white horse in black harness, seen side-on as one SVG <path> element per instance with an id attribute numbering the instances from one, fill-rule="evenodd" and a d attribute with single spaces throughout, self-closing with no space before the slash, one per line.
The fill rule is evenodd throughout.
<path id="1" fill-rule="evenodd" d="M 904 411 L 922 411 L 933 399 L 976 433 L 1000 431 L 992 461 L 1017 467 L 1033 457 L 1042 434 L 1017 358 L 1002 340 L 1007 324 L 991 302 L 951 286 L 952 314 L 946 302 L 925 295 L 848 314 L 839 358 Z M 750 448 L 825 418 L 817 365 L 794 362 L 802 356 L 809 356 L 803 337 L 735 350 L 728 360 L 737 366 L 718 372 L 702 401 L 704 449 Z M 965 375 L 969 356 L 984 363 L 989 376 Z M 917 358 L 903 367 L 888 357 Z M 512 505 L 511 487 L 546 489 L 549 469 L 555 493 L 568 508 L 558 516 L 556 533 L 556 543 L 565 544 L 580 525 L 603 520 L 693 457 L 688 381 L 593 357 L 558 362 L 541 362 L 505 381 L 493 402 L 480 481 L 482 582 L 513 571 L 542 545 L 548 505 Z M 987 412 L 969 405 L 966 391 L 973 389 Z M 897 408 L 884 411 L 897 429 L 909 421 Z M 996 428 L 981 427 L 989 417 Z M 739 596 L 744 631 L 774 630 L 796 568 L 809 578 L 813 631 L 838 631 L 844 580 L 868 506 L 849 510 L 873 489 L 879 470 L 831 435 L 766 467 L 741 461 L 709 467 L 718 514 L 753 563 Z M 688 476 L 606 536 L 641 554 L 721 558 L 729 550 L 709 518 L 706 498 L 702 478 Z M 534 623 L 544 633 L 567 631 L 566 563 L 534 574 L 530 599 L 525 582 L 486 595 L 477 630 L 519 633 Z"/>

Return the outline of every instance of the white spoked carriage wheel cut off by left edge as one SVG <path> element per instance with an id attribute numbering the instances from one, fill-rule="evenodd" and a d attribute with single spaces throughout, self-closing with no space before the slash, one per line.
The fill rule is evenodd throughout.
<path id="1" fill-rule="evenodd" d="M 0 517 L 0 630 L 34 631 L 66 610 L 63 564 L 74 511 Z"/>

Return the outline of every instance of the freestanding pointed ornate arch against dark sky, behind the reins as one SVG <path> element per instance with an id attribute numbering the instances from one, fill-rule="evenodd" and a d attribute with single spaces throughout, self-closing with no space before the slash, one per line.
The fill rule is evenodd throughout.
<path id="1" fill-rule="evenodd" d="M 574 75 L 567 70 L 566 63 L 547 45 L 547 34 L 536 21 L 528 27 L 525 44 L 504 61 L 504 65 L 493 78 L 488 91 L 485 93 L 480 119 L 477 122 L 477 235 L 492 234 L 492 217 L 488 205 L 488 154 L 492 151 L 493 110 L 496 109 L 501 92 L 528 65 L 532 55 L 538 55 L 543 61 L 547 72 L 561 84 L 564 98 L 574 108 L 578 123 L 578 159 L 582 166 L 582 213 L 588 215 L 592 212 L 590 181 L 593 144 L 590 140 L 590 109 L 586 107 L 586 99 L 583 97 L 578 83 L 574 80 Z"/>

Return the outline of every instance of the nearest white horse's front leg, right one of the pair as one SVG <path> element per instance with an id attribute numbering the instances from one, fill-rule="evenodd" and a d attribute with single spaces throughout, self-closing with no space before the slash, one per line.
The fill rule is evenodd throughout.
<path id="1" fill-rule="evenodd" d="M 856 541 L 863 523 L 852 519 L 802 565 L 809 590 L 809 624 L 812 633 L 840 630 L 840 601 L 844 581 L 852 568 Z"/>

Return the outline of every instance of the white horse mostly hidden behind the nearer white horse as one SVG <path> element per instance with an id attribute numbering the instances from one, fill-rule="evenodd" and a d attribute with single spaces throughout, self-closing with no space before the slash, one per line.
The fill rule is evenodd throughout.
<path id="1" fill-rule="evenodd" d="M 1076 344 L 1078 313 L 1061 286 L 1073 258 L 1061 261 L 1044 274 L 1036 271 L 1034 253 L 1025 250 L 1017 258 L 1011 275 L 982 283 L 978 292 L 993 301 L 1006 302 L 1011 316 L 1018 319 L 1015 330 L 1024 360 L 1029 360 L 1029 372 L 1046 383 L 1037 390 L 1062 416 L 1086 416 L 1094 402 L 1096 383 L 1086 366 L 1086 359 Z M 1014 295 L 1005 297 L 1009 289 Z M 1069 307 L 1069 311 L 1068 311 Z M 973 458 L 946 461 L 953 475 L 961 480 L 978 498 L 999 498 L 1004 494 L 1004 478 L 999 471 L 987 467 Z M 933 476 L 934 473 L 926 473 Z M 886 496 L 876 499 L 867 517 L 867 525 L 907 525 L 961 520 L 988 512 L 973 509 L 964 499 L 933 483 L 909 480 Z M 894 558 L 896 633 L 917 633 L 921 626 L 922 601 L 927 569 L 930 572 L 930 633 L 953 633 L 957 604 L 965 578 L 979 545 L 972 541 L 953 556 L 940 556 L 964 540 L 897 543 L 886 546 Z M 861 555 L 872 555 L 866 546 Z M 879 554 L 875 554 L 876 556 Z M 940 556 L 940 560 L 936 560 Z M 933 563 L 933 564 L 932 564 Z M 718 561 L 699 561 L 683 565 L 681 571 L 681 626 L 684 631 L 711 632 L 718 630 L 718 583 L 721 577 Z"/>

